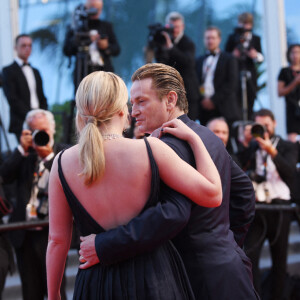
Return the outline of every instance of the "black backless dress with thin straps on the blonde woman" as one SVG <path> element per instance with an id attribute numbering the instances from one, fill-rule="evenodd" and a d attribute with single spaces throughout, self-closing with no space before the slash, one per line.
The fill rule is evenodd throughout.
<path id="1" fill-rule="evenodd" d="M 160 178 L 150 145 L 145 139 L 151 164 L 151 194 L 144 210 L 159 196 Z M 83 236 L 105 230 L 89 215 L 72 193 L 58 159 L 58 172 L 74 220 Z M 73 299 L 88 300 L 184 300 L 195 299 L 183 262 L 171 242 L 154 251 L 118 264 L 94 265 L 78 270 Z"/>

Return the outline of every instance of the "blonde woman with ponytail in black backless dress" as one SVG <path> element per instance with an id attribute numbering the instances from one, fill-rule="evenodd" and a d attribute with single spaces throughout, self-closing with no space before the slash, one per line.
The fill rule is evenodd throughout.
<path id="1" fill-rule="evenodd" d="M 201 139 L 179 120 L 163 131 L 186 140 L 197 170 L 159 139 L 122 137 L 127 88 L 115 74 L 95 72 L 76 94 L 79 143 L 61 153 L 49 186 L 48 299 L 59 288 L 71 242 L 72 221 L 82 235 L 127 224 L 159 197 L 160 180 L 199 205 L 218 206 L 219 174 Z M 83 260 L 84 261 L 84 260 Z M 194 299 L 181 259 L 167 242 L 119 264 L 78 271 L 74 299 Z"/>

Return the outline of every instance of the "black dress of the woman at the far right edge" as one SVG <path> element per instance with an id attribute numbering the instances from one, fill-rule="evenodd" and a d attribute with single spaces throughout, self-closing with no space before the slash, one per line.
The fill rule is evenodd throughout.
<path id="1" fill-rule="evenodd" d="M 289 85 L 299 72 L 293 71 L 291 68 L 282 68 L 280 70 L 278 80 L 283 81 L 285 85 Z M 300 86 L 298 85 L 288 95 L 285 96 L 286 103 L 286 127 L 287 133 L 296 132 L 300 134 Z"/>

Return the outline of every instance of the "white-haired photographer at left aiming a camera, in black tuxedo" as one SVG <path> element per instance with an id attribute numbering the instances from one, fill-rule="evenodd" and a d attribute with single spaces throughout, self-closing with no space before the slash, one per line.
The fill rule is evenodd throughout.
<path id="1" fill-rule="evenodd" d="M 53 114 L 36 109 L 28 112 L 26 127 L 20 145 L 0 166 L 4 183 L 16 180 L 16 202 L 10 222 L 24 222 L 47 218 L 48 178 L 55 154 L 62 146 L 54 144 L 55 121 Z M 38 145 L 35 131 L 44 131 L 44 145 Z M 45 145 L 46 144 L 46 145 Z M 32 228 L 11 232 L 24 300 L 43 300 L 47 296 L 46 249 L 48 228 Z M 66 299 L 64 285 L 62 298 Z"/>

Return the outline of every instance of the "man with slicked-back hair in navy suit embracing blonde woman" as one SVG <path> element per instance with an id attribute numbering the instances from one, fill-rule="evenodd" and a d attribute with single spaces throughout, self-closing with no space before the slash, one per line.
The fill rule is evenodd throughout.
<path id="1" fill-rule="evenodd" d="M 188 118 L 183 80 L 174 68 L 147 64 L 133 74 L 132 81 L 132 116 L 139 130 L 152 133 L 164 122 L 179 118 L 197 132 L 220 173 L 223 201 L 217 208 L 200 207 L 162 184 L 161 202 L 156 206 L 125 226 L 81 238 L 79 253 L 81 261 L 86 260 L 81 268 L 99 261 L 115 263 L 174 238 L 196 299 L 257 299 L 250 260 L 239 247 L 254 217 L 249 178 L 217 136 Z M 195 166 L 186 142 L 170 135 L 162 140 Z"/>

